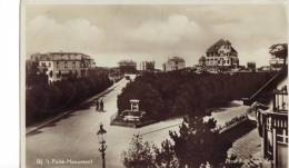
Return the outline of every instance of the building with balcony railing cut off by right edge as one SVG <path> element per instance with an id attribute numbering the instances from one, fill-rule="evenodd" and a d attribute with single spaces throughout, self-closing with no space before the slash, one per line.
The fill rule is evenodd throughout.
<path id="1" fill-rule="evenodd" d="M 262 167 L 288 167 L 288 91 L 287 87 L 273 90 L 272 106 L 256 110 L 257 126 L 262 138 Z"/>

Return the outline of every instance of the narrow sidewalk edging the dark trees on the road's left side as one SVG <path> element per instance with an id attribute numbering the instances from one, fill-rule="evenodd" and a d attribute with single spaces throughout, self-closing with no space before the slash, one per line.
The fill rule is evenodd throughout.
<path id="1" fill-rule="evenodd" d="M 67 116 L 67 115 L 69 115 L 69 113 L 71 113 L 71 112 L 73 112 L 73 111 L 74 111 L 73 108 L 76 108 L 76 107 L 78 107 L 78 106 L 81 106 L 81 105 L 83 105 L 83 103 L 86 103 L 86 102 L 89 102 L 89 101 L 91 101 L 91 100 L 93 100 L 93 99 L 96 99 L 96 98 L 99 98 L 99 97 L 101 97 L 101 96 L 103 96 L 103 95 L 110 92 L 111 90 L 113 90 L 116 87 L 118 87 L 118 86 L 119 86 L 121 82 L 123 82 L 123 81 L 126 81 L 124 78 L 121 79 L 121 80 L 119 80 L 118 82 L 113 83 L 111 87 L 107 88 L 106 90 L 103 90 L 103 91 L 97 93 L 96 96 L 90 97 L 90 98 L 88 98 L 87 100 L 80 102 L 79 105 L 77 105 L 77 106 L 74 106 L 74 107 L 70 107 L 69 109 L 64 110 L 63 112 L 61 112 L 61 113 L 59 113 L 59 115 L 57 115 L 57 116 L 54 116 L 54 117 L 48 118 L 47 120 L 44 120 L 44 121 L 42 121 L 42 122 L 36 123 L 34 126 L 27 127 L 27 128 L 26 128 L 26 135 L 32 134 L 32 132 L 34 132 L 34 131 L 37 131 L 37 130 L 39 130 L 39 129 L 46 127 L 47 125 L 49 125 L 49 123 L 51 123 L 51 122 L 54 122 L 54 121 L 57 121 L 57 120 L 63 118 L 64 116 Z"/>

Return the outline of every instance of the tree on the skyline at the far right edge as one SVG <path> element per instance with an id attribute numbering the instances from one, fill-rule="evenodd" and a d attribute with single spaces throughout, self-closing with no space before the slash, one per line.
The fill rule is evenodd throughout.
<path id="1" fill-rule="evenodd" d="M 277 58 L 283 59 L 283 65 L 286 65 L 288 57 L 288 45 L 287 43 L 276 43 L 269 48 L 269 53 L 276 56 Z"/>

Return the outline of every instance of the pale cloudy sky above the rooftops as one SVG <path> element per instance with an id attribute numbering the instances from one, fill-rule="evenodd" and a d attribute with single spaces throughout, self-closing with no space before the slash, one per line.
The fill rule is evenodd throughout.
<path id="1" fill-rule="evenodd" d="M 283 4 L 27 4 L 26 55 L 69 51 L 116 67 L 182 57 L 198 63 L 219 39 L 229 40 L 240 65 L 269 63 L 269 47 L 287 42 Z"/>

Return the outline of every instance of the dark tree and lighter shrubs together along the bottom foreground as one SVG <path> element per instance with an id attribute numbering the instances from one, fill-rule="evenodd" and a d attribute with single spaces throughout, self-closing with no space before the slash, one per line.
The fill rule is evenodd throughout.
<path id="1" fill-rule="evenodd" d="M 243 162 L 236 156 L 228 156 L 231 146 L 219 135 L 216 120 L 203 121 L 201 117 L 183 120 L 179 132 L 170 131 L 170 139 L 160 147 L 143 141 L 137 135 L 122 154 L 127 168 L 240 168 Z"/>

